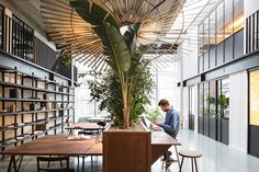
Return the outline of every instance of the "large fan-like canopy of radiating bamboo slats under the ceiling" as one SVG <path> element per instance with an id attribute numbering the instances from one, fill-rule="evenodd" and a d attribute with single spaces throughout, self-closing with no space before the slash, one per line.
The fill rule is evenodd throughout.
<path id="1" fill-rule="evenodd" d="M 156 45 L 149 50 L 153 58 L 167 54 L 167 50 L 177 51 L 181 35 L 201 11 L 198 10 L 195 14 L 187 12 L 184 18 L 183 7 L 189 7 L 185 3 L 188 0 L 92 1 L 109 11 L 120 26 L 140 22 L 137 44 Z M 201 9 L 203 9 L 202 5 Z M 191 9 L 190 12 L 192 12 Z M 56 44 L 58 49 L 91 68 L 105 69 L 108 67 L 101 39 L 94 34 L 91 24 L 81 19 L 70 7 L 69 0 L 41 0 L 41 13 L 48 38 Z M 166 44 L 167 49 L 159 53 L 157 45 L 161 44 Z M 173 58 L 179 59 L 179 57 Z"/>

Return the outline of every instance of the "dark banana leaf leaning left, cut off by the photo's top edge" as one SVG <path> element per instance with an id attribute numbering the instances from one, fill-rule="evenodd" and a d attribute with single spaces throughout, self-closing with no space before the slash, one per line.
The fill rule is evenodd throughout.
<path id="1" fill-rule="evenodd" d="M 93 26 L 100 26 L 103 22 L 109 22 L 117 31 L 120 30 L 116 20 L 97 3 L 90 0 L 70 0 L 70 4 L 83 20 Z"/>

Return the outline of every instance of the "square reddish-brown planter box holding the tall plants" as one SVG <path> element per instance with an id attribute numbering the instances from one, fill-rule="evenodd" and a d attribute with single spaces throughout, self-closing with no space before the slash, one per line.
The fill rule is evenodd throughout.
<path id="1" fill-rule="evenodd" d="M 150 131 L 104 131 L 104 172 L 150 172 Z"/>

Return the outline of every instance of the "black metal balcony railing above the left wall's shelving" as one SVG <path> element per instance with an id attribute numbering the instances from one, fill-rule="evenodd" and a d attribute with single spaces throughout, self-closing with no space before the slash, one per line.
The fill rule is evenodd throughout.
<path id="1" fill-rule="evenodd" d="M 1 8 L 1 7 L 0 7 Z M 3 9 L 3 8 L 2 8 Z M 5 15 L 0 9 L 0 49 L 48 70 L 56 64 L 58 53 L 34 36 L 34 30 L 15 15 Z M 71 79 L 71 69 L 56 71 Z M 77 69 L 75 68 L 75 72 Z"/>

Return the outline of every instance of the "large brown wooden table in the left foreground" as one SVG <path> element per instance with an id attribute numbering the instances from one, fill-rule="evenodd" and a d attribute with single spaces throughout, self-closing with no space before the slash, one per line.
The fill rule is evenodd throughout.
<path id="1" fill-rule="evenodd" d="M 10 154 L 8 172 L 20 170 L 24 156 L 67 156 L 82 157 L 82 171 L 85 169 L 85 157 L 102 156 L 102 144 L 95 142 L 95 138 L 82 140 L 69 140 L 68 136 L 45 136 L 36 140 L 10 148 L 0 152 L 0 154 Z M 19 156 L 15 159 L 15 156 Z M 79 169 L 79 167 L 78 167 Z"/>

